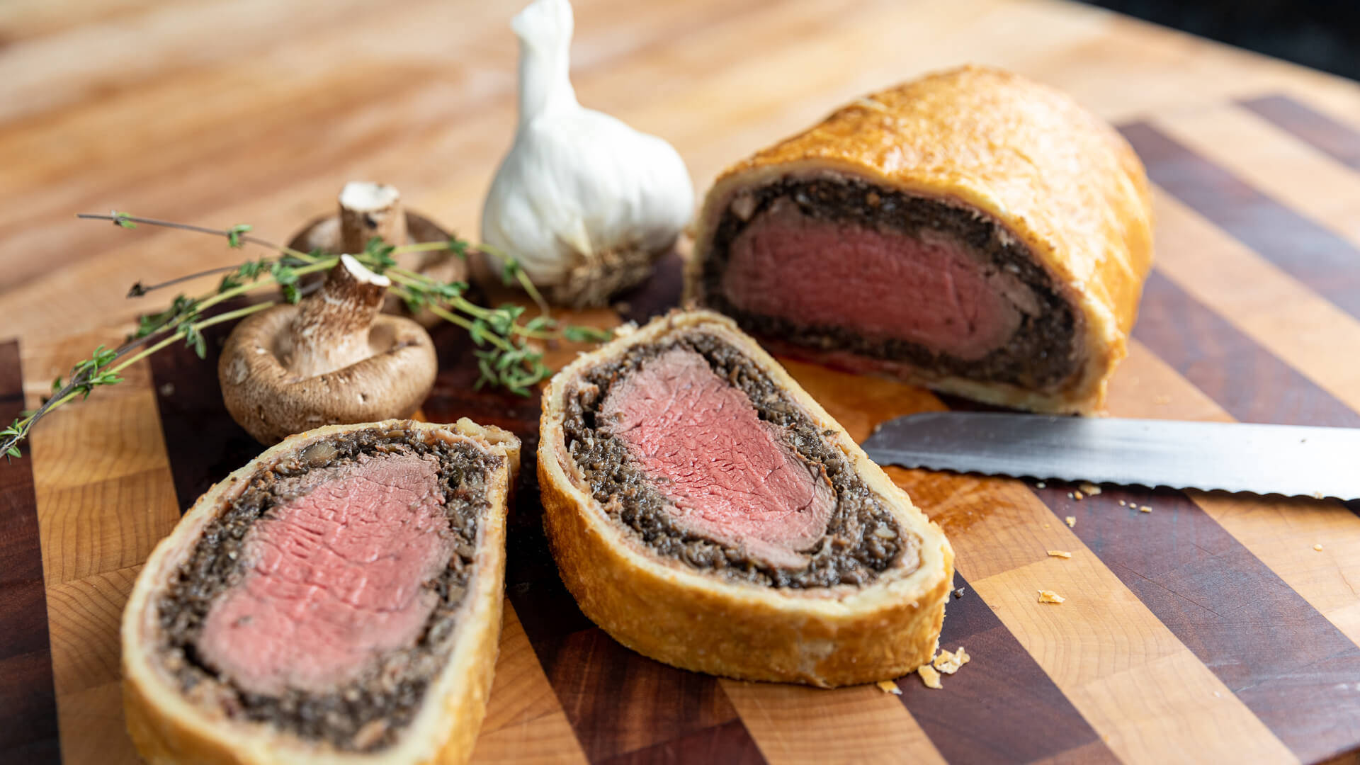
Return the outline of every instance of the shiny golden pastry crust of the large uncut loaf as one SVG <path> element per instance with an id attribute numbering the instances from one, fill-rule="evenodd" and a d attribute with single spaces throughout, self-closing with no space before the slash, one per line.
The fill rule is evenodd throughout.
<path id="1" fill-rule="evenodd" d="M 986 67 L 866 95 L 718 177 L 698 221 L 687 297 L 704 302 L 699 275 L 738 193 L 827 176 L 964 206 L 1000 223 L 1028 248 L 1077 316 L 1080 369 L 1059 389 L 938 376 L 910 365 L 892 374 L 996 404 L 1102 410 L 1152 264 L 1146 174 L 1114 128 L 1054 88 Z"/>

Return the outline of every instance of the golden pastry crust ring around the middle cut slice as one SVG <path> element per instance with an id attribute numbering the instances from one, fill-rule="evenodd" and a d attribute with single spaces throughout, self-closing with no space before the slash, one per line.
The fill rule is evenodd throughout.
<path id="1" fill-rule="evenodd" d="M 592 366 L 691 329 L 736 347 L 812 418 L 900 527 L 921 539 L 915 569 L 895 566 L 869 584 L 830 588 L 737 583 L 658 555 L 609 517 L 567 451 L 567 392 Z M 639 653 L 714 675 L 835 687 L 902 677 L 936 652 L 953 581 L 944 532 L 725 316 L 673 312 L 559 372 L 543 393 L 539 482 L 544 527 L 567 589 L 586 617 Z"/>

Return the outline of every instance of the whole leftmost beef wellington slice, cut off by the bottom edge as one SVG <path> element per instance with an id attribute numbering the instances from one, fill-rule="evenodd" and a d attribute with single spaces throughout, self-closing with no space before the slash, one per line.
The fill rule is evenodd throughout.
<path id="1" fill-rule="evenodd" d="M 286 438 L 194 502 L 122 617 L 152 764 L 464 762 L 500 634 L 514 436 L 386 421 Z"/>

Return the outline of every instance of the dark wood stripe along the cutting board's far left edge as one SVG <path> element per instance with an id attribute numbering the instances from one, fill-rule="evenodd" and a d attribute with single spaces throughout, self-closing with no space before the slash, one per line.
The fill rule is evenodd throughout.
<path id="1" fill-rule="evenodd" d="M 0 344 L 0 421 L 23 410 L 19 343 Z M 0 457 L 0 761 L 61 762 L 33 455 Z"/>

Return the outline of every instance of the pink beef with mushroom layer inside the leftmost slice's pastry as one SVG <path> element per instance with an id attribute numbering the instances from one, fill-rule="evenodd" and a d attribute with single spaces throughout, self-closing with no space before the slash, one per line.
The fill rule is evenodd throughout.
<path id="1" fill-rule="evenodd" d="M 260 470 L 158 603 L 166 670 L 228 717 L 390 746 L 447 657 L 499 464 L 370 429 Z"/>

